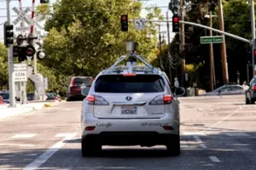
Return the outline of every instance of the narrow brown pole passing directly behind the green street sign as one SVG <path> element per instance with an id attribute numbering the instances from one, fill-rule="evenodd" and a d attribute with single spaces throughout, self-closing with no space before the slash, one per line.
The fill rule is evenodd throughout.
<path id="1" fill-rule="evenodd" d="M 212 27 L 212 11 L 210 10 L 210 27 Z M 212 31 L 210 30 L 210 36 L 212 37 Z M 213 59 L 213 44 L 210 43 L 210 88 L 211 91 L 213 91 L 214 89 L 214 67 L 213 67 L 213 63 L 214 63 L 214 59 Z"/>

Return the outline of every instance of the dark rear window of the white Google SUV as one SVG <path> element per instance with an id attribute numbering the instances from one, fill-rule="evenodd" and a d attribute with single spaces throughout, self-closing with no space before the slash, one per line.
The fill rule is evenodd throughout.
<path id="1" fill-rule="evenodd" d="M 158 93 L 163 92 L 165 84 L 158 75 L 108 75 L 96 80 L 95 91 L 100 93 Z"/>

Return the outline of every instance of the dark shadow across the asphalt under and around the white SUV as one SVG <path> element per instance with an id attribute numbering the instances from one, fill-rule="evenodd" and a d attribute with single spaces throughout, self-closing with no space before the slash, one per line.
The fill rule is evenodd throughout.
<path id="1" fill-rule="evenodd" d="M 180 156 L 166 156 L 165 147 L 159 148 L 104 148 L 101 155 L 96 157 L 82 157 L 80 139 L 65 141 L 67 144 L 58 150 L 48 161 L 38 169 L 179 169 L 179 170 L 255 170 L 255 132 L 241 132 L 207 134 L 200 136 L 202 149 L 196 143 L 193 135 L 182 136 L 182 144 L 188 142 L 188 147 L 182 147 Z M 238 134 L 238 136 L 236 136 Z M 240 136 L 239 136 L 240 134 Z M 240 145 L 239 145 L 240 144 Z M 124 149 L 125 148 L 125 149 Z M 131 148 L 131 149 L 130 149 Z M 12 153 L 0 154 L 0 167 L 6 169 L 26 167 L 41 156 L 46 150 L 24 149 L 13 150 Z M 251 150 L 251 151 L 244 151 Z M 253 155 L 254 154 L 254 155 Z M 212 162 L 209 156 L 217 156 L 220 162 Z M 239 160 L 240 163 L 236 163 Z M 223 163 L 225 161 L 225 163 Z M 242 163 L 243 162 L 243 163 Z M 247 162 L 247 163 L 245 163 Z M 221 166 L 220 166 L 221 165 Z M 151 167 L 151 168 L 148 168 Z M 4 169 L 4 168 L 3 168 Z"/>

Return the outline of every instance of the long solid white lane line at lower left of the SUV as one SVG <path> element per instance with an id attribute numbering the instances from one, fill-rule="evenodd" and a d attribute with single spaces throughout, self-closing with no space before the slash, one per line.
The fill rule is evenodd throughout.
<path id="1" fill-rule="evenodd" d="M 60 150 L 61 147 L 66 144 L 66 140 L 71 140 L 76 136 L 77 133 L 68 133 L 67 136 L 62 139 L 61 141 L 54 144 L 52 147 L 49 148 L 49 150 L 46 150 L 41 156 L 39 156 L 37 159 L 32 161 L 30 164 L 28 164 L 26 167 L 24 167 L 22 170 L 34 170 L 40 167 L 45 161 L 49 159 L 50 156 L 53 156 L 56 151 Z"/>

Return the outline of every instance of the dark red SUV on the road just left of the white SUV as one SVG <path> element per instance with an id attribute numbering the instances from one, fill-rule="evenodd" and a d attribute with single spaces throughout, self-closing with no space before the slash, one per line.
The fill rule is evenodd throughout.
<path id="1" fill-rule="evenodd" d="M 90 87 L 92 82 L 93 77 L 72 77 L 67 88 L 67 101 L 84 99 L 84 95 L 81 94 L 81 90 L 82 88 Z"/>

